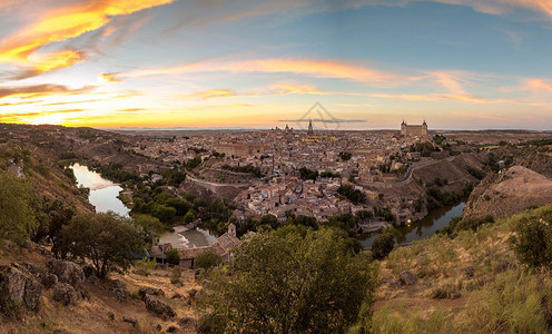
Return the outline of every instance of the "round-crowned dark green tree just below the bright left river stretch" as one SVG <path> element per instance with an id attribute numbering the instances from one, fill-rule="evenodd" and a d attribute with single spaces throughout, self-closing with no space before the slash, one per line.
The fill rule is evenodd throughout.
<path id="1" fill-rule="evenodd" d="M 136 254 L 144 252 L 144 232 L 114 213 L 80 214 L 61 232 L 63 250 L 89 258 L 98 277 L 114 267 L 128 268 Z"/>

